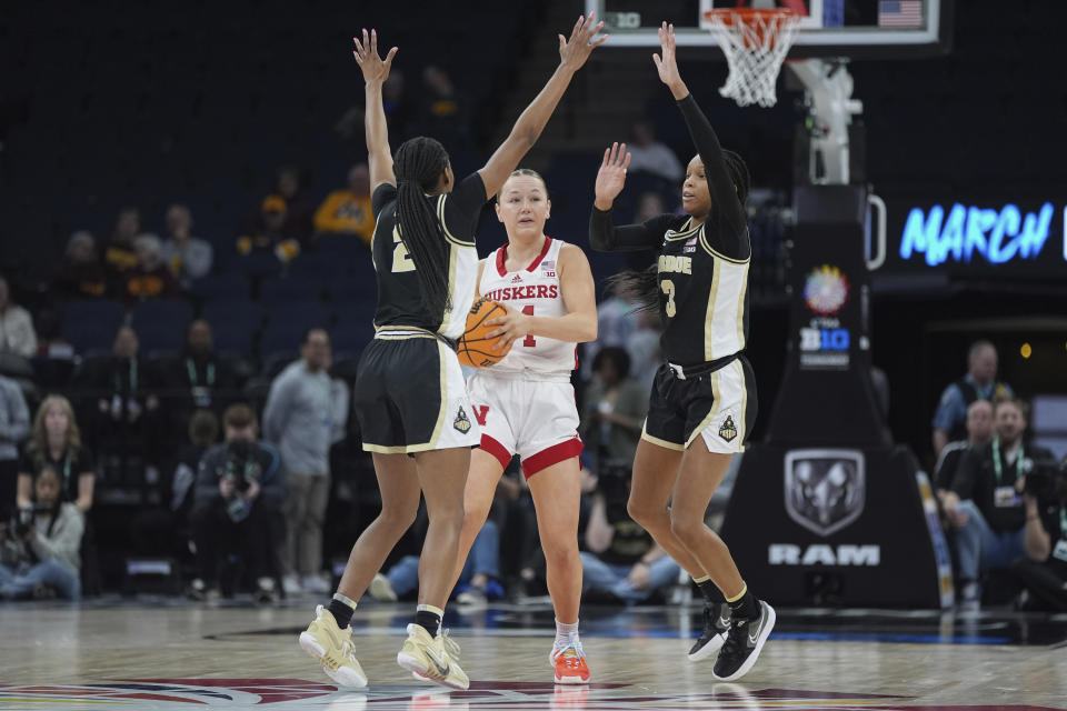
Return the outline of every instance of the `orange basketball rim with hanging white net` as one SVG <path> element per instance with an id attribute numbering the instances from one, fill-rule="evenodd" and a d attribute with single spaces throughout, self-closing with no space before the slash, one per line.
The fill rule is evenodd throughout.
<path id="1" fill-rule="evenodd" d="M 800 16 L 785 9 L 729 8 L 708 10 L 704 18 L 730 67 L 719 93 L 741 107 L 775 106 L 775 82 Z"/>

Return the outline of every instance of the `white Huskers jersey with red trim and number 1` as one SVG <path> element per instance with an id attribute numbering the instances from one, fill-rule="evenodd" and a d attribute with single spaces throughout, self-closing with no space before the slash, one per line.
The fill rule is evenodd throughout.
<path id="1" fill-rule="evenodd" d="M 567 314 L 562 287 L 559 284 L 559 250 L 564 242 L 545 238 L 545 248 L 534 261 L 519 271 L 507 271 L 507 246 L 489 254 L 481 270 L 478 292 L 517 311 L 538 317 Z M 527 336 L 511 344 L 511 351 L 492 373 L 523 373 L 537 379 L 570 380 L 577 368 L 577 343 L 557 341 L 542 336 Z"/>

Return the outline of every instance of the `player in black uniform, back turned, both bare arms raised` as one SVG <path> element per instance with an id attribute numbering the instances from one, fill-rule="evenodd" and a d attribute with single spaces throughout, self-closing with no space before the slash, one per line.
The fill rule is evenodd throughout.
<path id="1" fill-rule="evenodd" d="M 453 350 L 476 290 L 475 229 L 482 204 L 534 146 L 574 73 L 607 39 L 594 40 L 602 24 L 592 16 L 579 17 L 569 39 L 559 36 L 556 72 L 485 167 L 458 183 L 448 153 L 433 139 L 406 141 L 393 159 L 381 84 L 397 48 L 382 60 L 373 30 L 355 40 L 366 81 L 378 310 L 375 340 L 360 359 L 353 405 L 363 449 L 373 455 L 381 513 L 352 547 L 337 594 L 316 610 L 300 635 L 300 645 L 339 684 L 367 683 L 349 621 L 356 601 L 415 521 L 420 492 L 430 524 L 419 565 L 419 607 L 397 662 L 448 687 L 466 689 L 469 683 L 459 667 L 459 648 L 440 622 L 458 555 L 470 449 L 480 442 Z"/>

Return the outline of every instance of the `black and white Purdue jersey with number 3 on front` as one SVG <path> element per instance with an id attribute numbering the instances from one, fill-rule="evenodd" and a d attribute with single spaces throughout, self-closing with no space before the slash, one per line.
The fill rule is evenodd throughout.
<path id="1" fill-rule="evenodd" d="M 658 259 L 664 356 L 678 365 L 732 356 L 748 340 L 748 234 L 742 252 L 749 257 L 732 259 L 711 247 L 707 223 L 691 222 L 664 232 Z"/>

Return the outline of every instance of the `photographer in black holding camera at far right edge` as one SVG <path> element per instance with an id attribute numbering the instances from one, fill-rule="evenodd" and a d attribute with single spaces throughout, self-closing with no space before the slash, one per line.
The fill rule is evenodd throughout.
<path id="1" fill-rule="evenodd" d="M 1026 610 L 1067 611 L 1067 459 L 1038 462 L 1023 487 L 1026 555 L 1011 564 Z"/>

